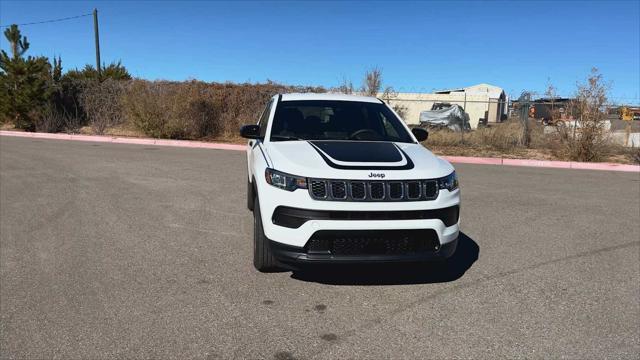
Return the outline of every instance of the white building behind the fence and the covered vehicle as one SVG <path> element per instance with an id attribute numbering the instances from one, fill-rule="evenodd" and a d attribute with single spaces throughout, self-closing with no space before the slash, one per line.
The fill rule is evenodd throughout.
<path id="1" fill-rule="evenodd" d="M 475 129 L 481 121 L 496 123 L 507 114 L 507 96 L 504 90 L 489 84 L 478 84 L 465 88 L 424 93 L 395 93 L 391 97 L 379 94 L 390 105 L 399 105 L 406 109 L 404 120 L 407 124 L 418 124 L 420 112 L 431 110 L 435 103 L 460 105 L 467 115 L 469 124 Z"/>

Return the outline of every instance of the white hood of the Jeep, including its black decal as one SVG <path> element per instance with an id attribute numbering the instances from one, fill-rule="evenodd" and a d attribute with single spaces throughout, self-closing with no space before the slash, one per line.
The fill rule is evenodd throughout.
<path id="1" fill-rule="evenodd" d="M 265 149 L 274 169 L 305 177 L 430 179 L 453 171 L 447 161 L 413 143 L 278 141 L 269 142 Z"/>

